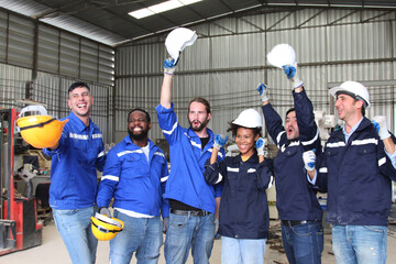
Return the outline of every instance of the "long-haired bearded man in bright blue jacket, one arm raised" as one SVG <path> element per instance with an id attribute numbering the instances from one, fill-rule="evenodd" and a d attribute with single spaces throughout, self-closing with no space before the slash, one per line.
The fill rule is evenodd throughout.
<path id="1" fill-rule="evenodd" d="M 207 264 L 216 233 L 215 197 L 220 199 L 220 186 L 208 185 L 205 163 L 211 156 L 215 134 L 207 128 L 211 118 L 209 102 L 195 98 L 188 106 L 190 127 L 177 122 L 172 100 L 174 61 L 165 61 L 161 105 L 156 107 L 158 123 L 170 148 L 170 175 L 165 198 L 169 199 L 169 228 L 165 241 L 165 260 L 169 264 L 186 263 L 189 249 L 194 263 Z M 219 152 L 219 161 L 224 151 Z"/>

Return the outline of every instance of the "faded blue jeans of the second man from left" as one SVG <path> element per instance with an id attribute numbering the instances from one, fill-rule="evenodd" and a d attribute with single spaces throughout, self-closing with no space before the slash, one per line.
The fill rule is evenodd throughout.
<path id="1" fill-rule="evenodd" d="M 156 264 L 163 243 L 161 217 L 133 218 L 116 210 L 114 218 L 124 228 L 110 240 L 111 264 L 130 263 L 134 252 L 139 264 Z"/>

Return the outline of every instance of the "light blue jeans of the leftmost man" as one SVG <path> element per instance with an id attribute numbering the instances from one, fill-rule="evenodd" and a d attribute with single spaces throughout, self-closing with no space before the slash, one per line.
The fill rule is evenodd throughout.
<path id="1" fill-rule="evenodd" d="M 58 230 L 72 263 L 95 263 L 98 240 L 95 238 L 90 217 L 97 207 L 59 210 L 53 209 L 56 229 Z"/>

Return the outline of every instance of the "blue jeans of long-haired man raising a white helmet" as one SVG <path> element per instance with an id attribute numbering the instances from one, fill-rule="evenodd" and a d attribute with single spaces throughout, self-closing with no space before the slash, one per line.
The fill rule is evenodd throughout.
<path id="1" fill-rule="evenodd" d="M 208 264 L 215 240 L 215 215 L 206 217 L 169 215 L 165 239 L 167 264 L 184 264 L 189 249 L 195 264 Z"/>

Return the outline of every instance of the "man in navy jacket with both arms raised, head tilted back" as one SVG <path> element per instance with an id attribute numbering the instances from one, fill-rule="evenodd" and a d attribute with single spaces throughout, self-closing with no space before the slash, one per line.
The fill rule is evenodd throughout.
<path id="1" fill-rule="evenodd" d="M 304 82 L 297 77 L 297 66 L 284 65 L 283 69 L 292 81 L 295 106 L 286 112 L 285 128 L 270 103 L 267 87 L 262 84 L 257 88 L 268 134 L 279 148 L 274 158 L 274 177 L 282 242 L 290 264 L 318 264 L 323 251 L 323 213 L 307 179 L 302 153 L 312 148 L 321 153 L 319 129 Z"/>

